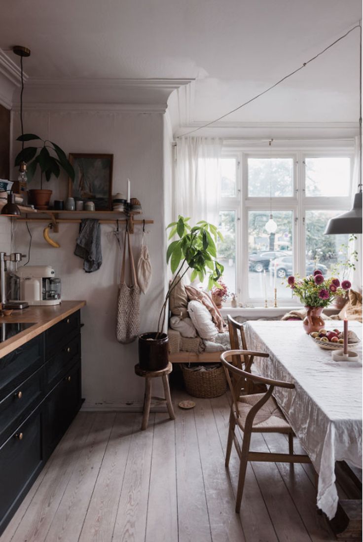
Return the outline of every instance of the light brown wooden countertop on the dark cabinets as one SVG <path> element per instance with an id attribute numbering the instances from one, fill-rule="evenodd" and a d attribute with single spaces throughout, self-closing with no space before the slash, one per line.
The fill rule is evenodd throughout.
<path id="1" fill-rule="evenodd" d="M 60 305 L 32 306 L 22 310 L 15 310 L 10 316 L 0 317 L 0 324 L 5 322 L 9 324 L 29 324 L 34 322 L 34 326 L 30 326 L 27 330 L 21 331 L 14 337 L 0 343 L 0 358 L 16 350 L 19 346 L 28 343 L 29 340 L 34 339 L 34 337 L 85 305 L 86 301 L 62 301 Z"/>

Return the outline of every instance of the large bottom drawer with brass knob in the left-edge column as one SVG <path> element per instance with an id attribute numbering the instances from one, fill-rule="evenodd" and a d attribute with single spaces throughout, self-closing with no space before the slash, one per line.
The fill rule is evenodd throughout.
<path id="1" fill-rule="evenodd" d="M 42 466 L 41 414 L 37 410 L 0 448 L 0 528 L 7 524 Z"/>

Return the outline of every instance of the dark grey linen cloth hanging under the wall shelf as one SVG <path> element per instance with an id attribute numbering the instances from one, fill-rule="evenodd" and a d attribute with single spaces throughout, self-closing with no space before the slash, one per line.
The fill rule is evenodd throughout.
<path id="1" fill-rule="evenodd" d="M 74 254 L 83 258 L 83 269 L 85 269 L 86 273 L 97 271 L 102 264 L 99 221 L 95 218 L 83 219 L 76 243 Z"/>

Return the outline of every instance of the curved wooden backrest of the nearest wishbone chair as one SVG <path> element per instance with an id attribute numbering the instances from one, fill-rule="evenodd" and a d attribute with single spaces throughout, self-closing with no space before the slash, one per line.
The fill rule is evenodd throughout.
<path id="1" fill-rule="evenodd" d="M 295 385 L 291 382 L 283 382 L 282 380 L 274 380 L 272 378 L 265 378 L 260 375 L 251 374 L 249 371 L 244 371 L 243 369 L 239 369 L 239 367 L 236 367 L 234 365 L 234 359 L 236 359 L 236 356 L 243 356 L 244 359 L 247 357 L 250 360 L 250 365 L 253 362 L 253 358 L 260 357 L 260 358 L 268 358 L 269 354 L 265 352 L 254 352 L 251 350 L 228 350 L 226 352 L 223 352 L 221 354 L 221 363 L 224 367 L 225 375 L 227 378 L 227 382 L 229 385 L 229 388 L 231 390 L 232 394 L 232 401 L 234 406 L 235 415 L 238 416 L 238 398 L 239 398 L 239 389 L 241 389 L 241 383 L 245 382 L 251 382 L 251 383 L 259 383 L 259 384 L 265 384 L 268 387 L 268 390 L 264 393 L 264 396 L 258 401 L 250 410 L 250 414 L 248 415 L 248 423 L 252 424 L 253 419 L 256 415 L 256 412 L 261 408 L 261 406 L 268 401 L 269 397 L 272 395 L 272 392 L 274 391 L 275 386 L 278 388 L 288 388 L 288 389 L 294 389 Z M 232 363 L 228 362 L 226 358 L 231 358 Z M 231 378 L 233 376 L 233 378 Z M 246 420 L 247 423 L 247 420 Z"/>

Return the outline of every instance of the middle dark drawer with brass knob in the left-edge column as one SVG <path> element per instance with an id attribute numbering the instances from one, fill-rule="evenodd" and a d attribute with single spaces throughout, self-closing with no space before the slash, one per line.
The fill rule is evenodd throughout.
<path id="1" fill-rule="evenodd" d="M 44 388 L 43 380 L 44 369 L 41 367 L 0 402 L 0 443 L 9 436 L 11 426 L 21 423 L 40 403 Z"/>

